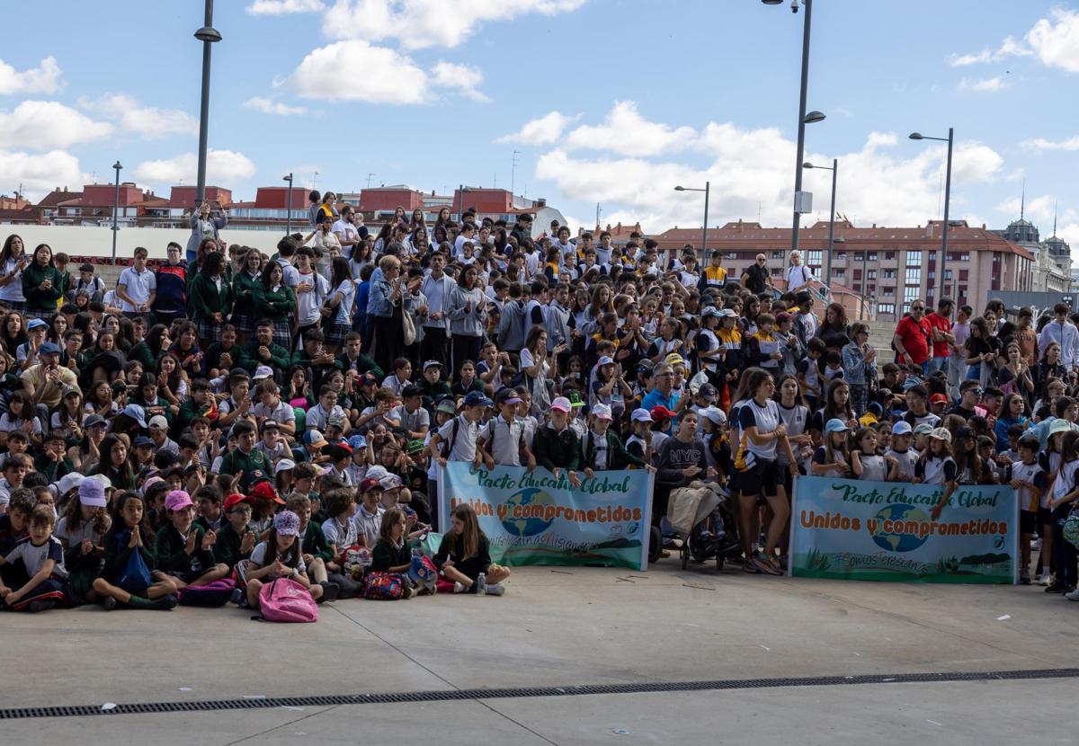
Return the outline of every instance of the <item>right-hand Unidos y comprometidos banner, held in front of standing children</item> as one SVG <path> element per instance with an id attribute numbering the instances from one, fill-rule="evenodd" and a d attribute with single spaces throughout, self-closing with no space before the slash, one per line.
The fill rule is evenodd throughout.
<path id="1" fill-rule="evenodd" d="M 824 476 L 795 480 L 790 574 L 801 578 L 1012 583 L 1019 506 L 1007 485 L 943 487 Z"/>

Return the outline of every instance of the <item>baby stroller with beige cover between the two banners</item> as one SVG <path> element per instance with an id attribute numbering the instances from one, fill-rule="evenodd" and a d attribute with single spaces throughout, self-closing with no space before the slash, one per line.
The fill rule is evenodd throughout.
<path id="1" fill-rule="evenodd" d="M 715 569 L 740 552 L 738 522 L 730 512 L 727 494 L 714 482 L 696 481 L 671 493 L 667 521 L 682 540 L 682 569 L 694 562 L 715 560 Z"/>

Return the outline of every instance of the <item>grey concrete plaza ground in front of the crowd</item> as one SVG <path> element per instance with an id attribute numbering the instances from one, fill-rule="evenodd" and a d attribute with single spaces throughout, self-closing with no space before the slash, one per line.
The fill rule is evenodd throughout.
<path id="1" fill-rule="evenodd" d="M 1040 677 L 1079 668 L 1079 604 L 1040 588 L 749 577 L 682 571 L 672 558 L 648 572 L 519 568 L 501 598 L 346 600 L 322 614 L 308 625 L 250 621 L 231 606 L 3 614 L 4 708 L 229 701 L 226 709 L 92 717 L 5 709 L 19 717 L 4 720 L 3 743 L 863 744 L 885 734 L 1074 743 L 1060 717 L 1073 707 L 1074 678 Z M 903 680 L 1013 671 L 1043 673 Z M 815 680 L 833 676 L 875 678 Z M 692 681 L 724 688 L 573 691 Z M 505 688 L 559 695 L 451 699 Z M 380 692 L 449 693 L 244 707 Z"/>

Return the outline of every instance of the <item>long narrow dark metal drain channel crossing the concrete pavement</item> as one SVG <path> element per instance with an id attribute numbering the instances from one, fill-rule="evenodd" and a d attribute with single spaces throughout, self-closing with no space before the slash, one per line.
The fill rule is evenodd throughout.
<path id="1" fill-rule="evenodd" d="M 724 689 L 769 689 L 776 687 L 836 687 L 861 683 L 940 683 L 948 681 L 1022 681 L 1030 679 L 1079 678 L 1079 668 L 1039 668 L 1033 671 L 991 671 L 973 674 L 873 674 L 863 676 L 814 676 L 771 679 L 716 679 L 711 681 L 669 681 L 657 683 L 599 683 L 581 687 L 535 687 L 513 689 L 450 689 L 424 692 L 383 692 L 371 694 L 330 694 L 326 696 L 276 696 L 243 700 L 203 700 L 192 702 L 146 702 L 118 704 L 109 709 L 100 705 L 51 707 L 10 707 L 0 709 L 0 720 L 25 718 L 70 718 L 92 715 L 146 715 L 151 713 L 206 713 L 223 709 L 269 709 L 274 707 L 327 707 L 333 705 L 408 704 L 416 702 L 455 702 L 461 700 L 510 700 L 537 696 L 584 696 L 589 694 L 648 694 L 654 692 L 712 691 Z"/>

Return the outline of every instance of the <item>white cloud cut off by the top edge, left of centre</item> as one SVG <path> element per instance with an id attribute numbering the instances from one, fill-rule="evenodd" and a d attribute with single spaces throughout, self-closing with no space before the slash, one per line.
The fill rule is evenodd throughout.
<path id="1" fill-rule="evenodd" d="M 330 39 L 395 39 L 406 50 L 453 47 L 475 38 L 483 23 L 537 13 L 575 11 L 585 0 L 337 0 L 326 12 Z"/>

